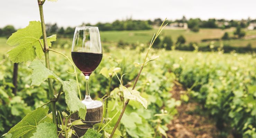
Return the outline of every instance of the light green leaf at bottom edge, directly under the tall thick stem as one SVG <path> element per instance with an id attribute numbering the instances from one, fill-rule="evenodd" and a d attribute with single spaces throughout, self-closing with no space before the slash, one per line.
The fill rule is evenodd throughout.
<path id="1" fill-rule="evenodd" d="M 31 138 L 58 138 L 56 126 L 52 122 L 43 122 L 36 127 Z"/>

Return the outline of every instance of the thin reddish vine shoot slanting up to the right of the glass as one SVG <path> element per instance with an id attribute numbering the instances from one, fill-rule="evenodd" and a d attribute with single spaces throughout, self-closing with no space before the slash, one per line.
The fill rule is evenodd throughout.
<path id="1" fill-rule="evenodd" d="M 166 20 L 166 18 L 165 18 L 165 20 Z M 143 68 L 145 67 L 145 63 L 146 63 L 147 56 L 148 56 L 148 53 L 149 53 L 150 48 L 153 46 L 153 44 L 154 44 L 156 38 L 158 37 L 159 33 L 161 33 L 162 30 L 164 29 L 164 27 L 167 25 L 167 23 L 166 23 L 165 26 L 162 28 L 162 26 L 163 26 L 165 20 L 163 21 L 162 25 L 161 25 L 160 28 L 158 29 L 157 33 L 154 34 L 154 36 L 152 37 L 152 40 L 151 40 L 150 45 L 149 45 L 149 48 L 148 48 L 148 50 L 147 50 L 147 54 L 146 54 L 146 56 L 145 56 L 144 62 L 143 62 L 143 64 L 142 64 L 141 67 L 140 67 L 139 73 L 138 73 L 138 75 L 137 75 L 137 77 L 136 77 L 136 80 L 135 80 L 135 82 L 134 82 L 134 85 L 133 85 L 133 87 L 132 87 L 132 90 L 135 89 L 135 86 L 136 86 L 136 84 L 137 84 L 137 82 L 138 82 L 138 79 L 139 79 L 139 76 L 140 76 L 140 74 L 141 74 L 141 71 L 142 71 Z M 161 28 L 162 28 L 162 29 L 161 29 Z M 122 86 L 121 86 L 121 87 L 122 87 Z M 109 136 L 109 138 L 112 138 L 113 135 L 115 134 L 115 131 L 116 131 L 116 129 L 117 129 L 117 127 L 118 127 L 118 125 L 119 125 L 121 119 L 122 119 L 122 116 L 123 116 L 124 113 L 125 113 L 125 109 L 126 109 L 128 103 L 129 103 L 129 101 L 130 101 L 130 99 L 127 99 L 127 100 L 125 101 L 125 105 L 124 105 L 124 107 L 123 107 L 123 109 L 122 109 L 122 112 L 121 112 L 121 114 L 120 114 L 120 116 L 119 116 L 119 118 L 118 118 L 118 120 L 117 120 L 117 123 L 116 123 L 115 127 L 113 128 L 113 131 L 111 132 L 111 135 Z"/>

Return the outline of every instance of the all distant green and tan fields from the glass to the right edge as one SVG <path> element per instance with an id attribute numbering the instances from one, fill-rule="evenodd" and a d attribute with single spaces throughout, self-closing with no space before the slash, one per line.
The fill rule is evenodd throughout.
<path id="1" fill-rule="evenodd" d="M 143 31 L 102 31 L 100 32 L 102 41 L 118 42 L 119 40 L 129 42 L 129 43 L 148 43 L 151 34 L 154 34 L 157 30 L 143 30 Z M 177 37 L 183 35 L 186 39 L 186 43 L 197 42 L 202 45 L 209 44 L 210 42 L 201 42 L 202 39 L 216 39 L 221 38 L 225 32 L 229 33 L 232 37 L 235 28 L 230 29 L 200 29 L 199 32 L 192 32 L 189 30 L 163 30 L 162 36 L 171 36 L 172 40 L 175 41 Z M 242 39 L 235 40 L 224 40 L 222 41 L 224 45 L 231 45 L 236 47 L 245 47 L 250 43 L 252 47 L 256 47 L 256 30 L 245 30 L 246 37 Z M 219 45 L 219 42 L 216 42 Z"/>

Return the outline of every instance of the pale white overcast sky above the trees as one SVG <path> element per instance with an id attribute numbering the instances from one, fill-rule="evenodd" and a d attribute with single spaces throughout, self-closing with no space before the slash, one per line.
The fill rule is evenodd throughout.
<path id="1" fill-rule="evenodd" d="M 79 26 L 82 22 L 112 22 L 116 19 L 225 18 L 256 19 L 256 0 L 58 0 L 46 1 L 46 23 Z M 37 0 L 1 0 L 0 27 L 16 28 L 40 20 Z"/>

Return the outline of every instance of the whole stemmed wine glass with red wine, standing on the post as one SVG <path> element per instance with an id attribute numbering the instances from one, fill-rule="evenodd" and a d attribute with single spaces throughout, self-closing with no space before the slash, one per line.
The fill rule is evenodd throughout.
<path id="1" fill-rule="evenodd" d="M 85 98 L 82 103 L 88 109 L 102 106 L 102 102 L 91 99 L 89 91 L 90 75 L 99 66 L 102 59 L 98 27 L 81 26 L 75 28 L 71 56 L 75 66 L 85 76 Z"/>

